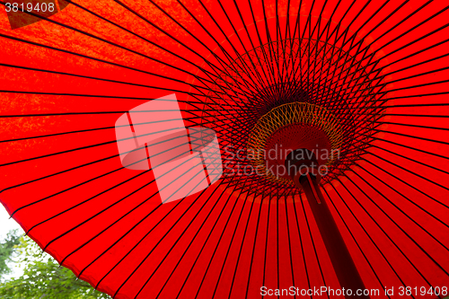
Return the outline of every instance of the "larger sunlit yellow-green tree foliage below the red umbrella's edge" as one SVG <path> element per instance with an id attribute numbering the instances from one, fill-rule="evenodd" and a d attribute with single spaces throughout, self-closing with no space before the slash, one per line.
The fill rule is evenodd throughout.
<path id="1" fill-rule="evenodd" d="M 67 268 L 59 267 L 57 261 L 29 237 L 19 237 L 15 247 L 16 263 L 23 267 L 21 277 L 0 283 L 2 299 L 100 299 L 110 296 L 95 291 L 83 280 L 77 280 Z"/>

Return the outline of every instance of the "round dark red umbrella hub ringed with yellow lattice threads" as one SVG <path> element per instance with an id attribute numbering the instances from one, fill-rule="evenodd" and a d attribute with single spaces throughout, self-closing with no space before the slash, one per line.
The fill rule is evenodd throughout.
<path id="1" fill-rule="evenodd" d="M 287 156 L 304 149 L 296 154 L 313 159 L 313 171 L 321 178 L 338 159 L 342 136 L 339 120 L 329 110 L 307 102 L 286 103 L 269 110 L 252 128 L 248 158 L 258 174 L 294 186 L 286 168 Z"/>

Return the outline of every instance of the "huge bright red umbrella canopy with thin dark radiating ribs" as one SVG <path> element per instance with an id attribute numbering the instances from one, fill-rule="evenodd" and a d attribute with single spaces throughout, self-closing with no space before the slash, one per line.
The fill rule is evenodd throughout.
<path id="1" fill-rule="evenodd" d="M 258 150 L 319 145 L 365 287 L 449 295 L 444 1 L 40 3 L 57 12 L 0 13 L 0 201 L 77 277 L 115 298 L 339 289 L 304 192 L 254 171 Z M 215 132 L 223 175 L 163 203 L 115 126 L 173 93 L 186 128 Z"/>

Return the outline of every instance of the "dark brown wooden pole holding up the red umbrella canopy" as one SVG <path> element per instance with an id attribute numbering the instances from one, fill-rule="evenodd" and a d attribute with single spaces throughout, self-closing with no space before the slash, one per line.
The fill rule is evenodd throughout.
<path id="1" fill-rule="evenodd" d="M 287 169 L 289 170 L 290 176 L 295 181 L 295 186 L 298 189 L 304 190 L 313 217 L 315 218 L 315 222 L 321 233 L 322 241 L 326 246 L 332 266 L 339 278 L 340 286 L 345 290 L 350 289 L 352 291 L 352 295 L 348 295 L 348 292 L 345 291 L 345 297 L 354 298 L 357 296 L 369 298 L 368 295 L 357 295 L 357 290 L 362 290 L 363 292 L 365 290 L 365 285 L 358 273 L 356 264 L 348 251 L 348 247 L 339 232 L 339 227 L 330 213 L 329 206 L 322 196 L 317 176 L 311 171 L 313 169 L 311 167 L 316 163 L 316 160 L 313 158 L 297 160 L 295 159 L 294 153 L 287 157 Z M 318 163 L 315 165 L 317 164 Z"/>

